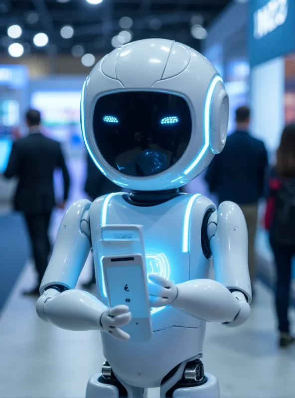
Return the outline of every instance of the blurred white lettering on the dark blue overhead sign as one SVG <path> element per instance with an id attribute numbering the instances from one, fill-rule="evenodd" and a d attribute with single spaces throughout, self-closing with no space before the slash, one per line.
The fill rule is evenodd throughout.
<path id="1" fill-rule="evenodd" d="M 254 37 L 261 39 L 284 25 L 288 15 L 288 0 L 270 0 L 254 13 Z"/>

